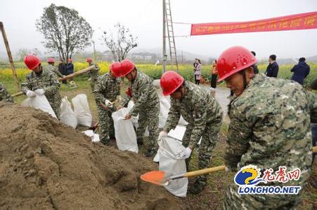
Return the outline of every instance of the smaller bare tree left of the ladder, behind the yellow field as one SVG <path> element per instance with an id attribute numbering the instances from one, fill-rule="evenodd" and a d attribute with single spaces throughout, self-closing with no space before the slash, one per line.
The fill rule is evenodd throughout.
<path id="1" fill-rule="evenodd" d="M 109 34 L 107 31 L 103 31 L 103 41 L 112 52 L 115 61 L 120 62 L 125 59 L 128 52 L 138 45 L 136 43 L 138 37 L 134 37 L 129 32 L 130 30 L 119 22 L 115 24 L 117 38 L 113 38 L 112 33 Z"/>

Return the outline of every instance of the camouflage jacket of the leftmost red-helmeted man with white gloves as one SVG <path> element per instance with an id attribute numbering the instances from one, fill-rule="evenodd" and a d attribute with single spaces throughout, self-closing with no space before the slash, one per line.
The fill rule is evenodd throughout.
<path id="1" fill-rule="evenodd" d="M 27 74 L 25 82 L 21 84 L 22 92 L 26 94 L 27 90 L 44 89 L 46 99 L 50 104 L 60 104 L 61 97 L 58 91 L 60 83 L 58 83 L 56 74 L 48 69 L 47 66 L 41 66 L 41 69 L 40 73 L 32 71 Z"/>

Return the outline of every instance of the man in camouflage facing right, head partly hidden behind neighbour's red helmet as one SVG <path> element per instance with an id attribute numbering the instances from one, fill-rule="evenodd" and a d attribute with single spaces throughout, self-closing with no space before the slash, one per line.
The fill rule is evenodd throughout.
<path id="1" fill-rule="evenodd" d="M 105 145 L 108 145 L 110 140 L 115 139 L 115 127 L 111 115 L 117 107 L 113 107 L 115 104 L 112 104 L 112 102 L 120 97 L 120 78 L 116 78 L 112 72 L 118 66 L 121 66 L 119 62 L 112 63 L 110 72 L 98 77 L 93 91 L 101 127 L 99 137 Z M 101 103 L 105 104 L 107 109 L 101 106 Z"/>

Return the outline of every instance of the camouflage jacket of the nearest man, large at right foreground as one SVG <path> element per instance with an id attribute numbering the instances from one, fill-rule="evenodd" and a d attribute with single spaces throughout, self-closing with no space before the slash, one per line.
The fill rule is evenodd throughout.
<path id="1" fill-rule="evenodd" d="M 231 118 L 225 162 L 235 169 L 257 165 L 302 169 L 311 165 L 311 131 L 316 122 L 316 95 L 298 83 L 257 74 L 228 105 Z M 306 178 L 305 178 L 306 177 Z"/>

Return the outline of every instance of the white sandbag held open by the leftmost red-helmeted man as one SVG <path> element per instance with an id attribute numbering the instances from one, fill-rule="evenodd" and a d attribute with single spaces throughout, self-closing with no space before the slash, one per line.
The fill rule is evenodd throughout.
<path id="1" fill-rule="evenodd" d="M 44 94 L 37 94 L 36 97 L 31 98 L 27 97 L 27 99 L 22 102 L 22 106 L 31 106 L 35 109 L 40 109 L 41 111 L 49 113 L 53 118 L 56 118 L 56 114 Z"/>

